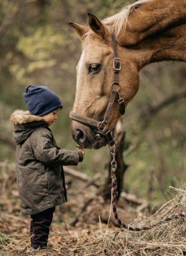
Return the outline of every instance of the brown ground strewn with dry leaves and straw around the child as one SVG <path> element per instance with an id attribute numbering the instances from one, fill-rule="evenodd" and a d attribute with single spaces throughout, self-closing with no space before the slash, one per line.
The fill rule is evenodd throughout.
<path id="1" fill-rule="evenodd" d="M 68 203 L 56 207 L 49 243 L 45 250 L 30 247 L 30 218 L 20 215 L 15 173 L 4 170 L 0 177 L 0 256 L 172 256 L 186 255 L 186 220 L 178 218 L 144 232 L 122 230 L 114 225 L 110 203 L 95 197 L 97 188 L 67 176 Z M 77 192 L 78 191 L 78 192 Z M 164 204 L 153 216 L 142 215 L 121 199 L 118 214 L 133 226 L 151 224 L 172 212 L 186 212 L 186 190 Z M 86 207 L 85 207 L 86 206 Z M 82 210 L 85 207 L 84 210 Z M 138 215 L 138 217 L 137 217 Z M 72 225 L 73 222 L 73 225 Z"/>

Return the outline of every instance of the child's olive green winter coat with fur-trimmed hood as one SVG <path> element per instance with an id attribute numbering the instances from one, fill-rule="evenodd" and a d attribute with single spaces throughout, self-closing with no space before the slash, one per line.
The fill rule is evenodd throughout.
<path id="1" fill-rule="evenodd" d="M 77 165 L 78 151 L 57 147 L 47 122 L 29 111 L 14 111 L 16 174 L 22 215 L 31 215 L 67 201 L 62 165 Z"/>

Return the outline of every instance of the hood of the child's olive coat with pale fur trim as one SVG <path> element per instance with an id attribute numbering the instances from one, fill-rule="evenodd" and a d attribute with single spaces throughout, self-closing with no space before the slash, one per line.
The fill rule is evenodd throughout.
<path id="1" fill-rule="evenodd" d="M 48 128 L 48 124 L 43 117 L 34 116 L 29 111 L 19 109 L 11 114 L 10 121 L 14 122 L 13 136 L 17 145 L 23 143 L 35 129 Z"/>

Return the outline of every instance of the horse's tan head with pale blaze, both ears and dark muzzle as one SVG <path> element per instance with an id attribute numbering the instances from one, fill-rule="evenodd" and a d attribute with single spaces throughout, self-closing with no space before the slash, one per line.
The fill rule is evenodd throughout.
<path id="1" fill-rule="evenodd" d="M 80 35 L 83 51 L 77 64 L 76 96 L 73 112 L 102 121 L 111 94 L 114 76 L 112 33 L 105 23 L 89 14 L 89 26 L 70 22 Z M 139 87 L 139 68 L 135 61 L 134 50 L 117 45 L 121 59 L 119 73 L 120 96 L 125 106 L 133 99 Z M 109 118 L 109 130 L 113 130 L 120 118 L 120 106 L 115 100 Z M 94 129 L 79 122 L 72 121 L 72 136 L 85 148 L 101 148 L 107 144 L 103 136 L 101 142 L 96 140 Z"/>

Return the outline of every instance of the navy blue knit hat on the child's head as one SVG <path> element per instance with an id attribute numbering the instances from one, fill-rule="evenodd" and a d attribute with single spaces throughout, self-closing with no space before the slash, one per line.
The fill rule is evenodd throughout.
<path id="1" fill-rule="evenodd" d="M 63 108 L 59 97 L 46 86 L 29 85 L 23 97 L 32 115 L 45 116 L 57 108 Z"/>

